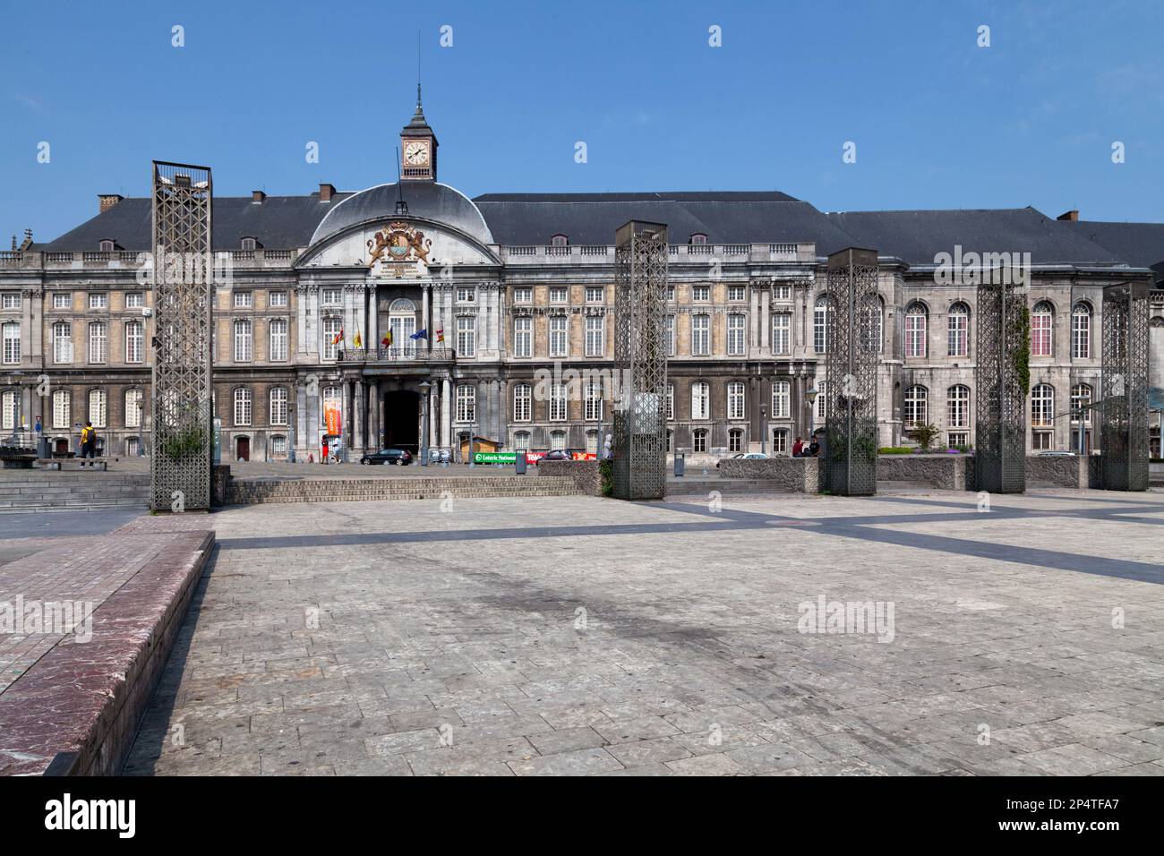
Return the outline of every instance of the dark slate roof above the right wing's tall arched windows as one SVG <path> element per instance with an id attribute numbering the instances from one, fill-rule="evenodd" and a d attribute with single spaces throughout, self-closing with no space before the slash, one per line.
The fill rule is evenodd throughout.
<path id="1" fill-rule="evenodd" d="M 829 219 L 858 246 L 909 264 L 934 264 L 938 253 L 1030 253 L 1032 264 L 1108 266 L 1126 261 L 1032 207 L 953 211 L 835 212 Z"/>

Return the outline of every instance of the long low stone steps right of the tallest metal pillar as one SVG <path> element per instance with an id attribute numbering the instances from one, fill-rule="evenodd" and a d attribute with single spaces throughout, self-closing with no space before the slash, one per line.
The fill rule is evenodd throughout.
<path id="1" fill-rule="evenodd" d="M 471 477 L 398 476 L 390 479 L 232 479 L 227 504 L 267 502 L 360 502 L 485 497 L 573 496 L 574 479 L 553 475 Z"/>

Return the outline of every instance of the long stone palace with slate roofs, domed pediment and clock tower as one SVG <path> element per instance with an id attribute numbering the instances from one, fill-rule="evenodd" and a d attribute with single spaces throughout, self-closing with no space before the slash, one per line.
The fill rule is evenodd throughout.
<path id="1" fill-rule="evenodd" d="M 824 264 L 850 246 L 879 253 L 883 445 L 924 424 L 942 444 L 974 443 L 974 286 L 944 280 L 942 254 L 1029 259 L 1031 450 L 1092 446 L 1091 418 L 1072 408 L 1099 394 L 1105 285 L 1152 284 L 1162 385 L 1162 224 L 1030 207 L 824 213 L 779 192 L 469 199 L 436 181 L 436 149 L 418 104 L 398 183 L 214 199 L 223 459 L 318 460 L 336 436 L 349 455 L 416 450 L 426 429 L 454 455 L 470 436 L 481 448 L 596 451 L 611 390 L 539 385 L 537 373 L 612 372 L 612 242 L 631 219 L 669 231 L 672 450 L 788 453 L 823 424 Z M 5 439 L 29 441 L 40 419 L 55 448 L 74 448 L 90 419 L 107 453 L 149 445 L 150 228 L 148 196 L 101 196 L 71 232 L 0 254 Z"/>

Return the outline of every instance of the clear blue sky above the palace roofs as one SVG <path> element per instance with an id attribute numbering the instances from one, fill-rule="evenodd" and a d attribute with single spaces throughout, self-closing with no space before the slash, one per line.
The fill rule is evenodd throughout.
<path id="1" fill-rule="evenodd" d="M 5 247 L 24 227 L 42 241 L 72 228 L 98 193 L 144 196 L 151 158 L 211 165 L 221 196 L 395 181 L 418 31 L 440 179 L 469 196 L 775 189 L 822 211 L 1034 205 L 1164 220 L 1158 0 L 2 0 L 0 12 Z M 856 163 L 842 162 L 847 141 Z"/>

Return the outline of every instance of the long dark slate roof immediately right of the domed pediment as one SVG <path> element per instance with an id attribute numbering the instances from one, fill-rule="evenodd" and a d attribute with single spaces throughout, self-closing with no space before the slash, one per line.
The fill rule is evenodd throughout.
<path id="1" fill-rule="evenodd" d="M 710 243 L 815 241 L 818 253 L 851 239 L 809 203 L 780 192 L 487 193 L 474 199 L 494 239 L 510 246 L 611 243 L 627 220 L 665 222 L 672 243 L 705 234 Z"/>

